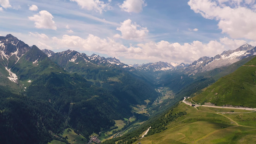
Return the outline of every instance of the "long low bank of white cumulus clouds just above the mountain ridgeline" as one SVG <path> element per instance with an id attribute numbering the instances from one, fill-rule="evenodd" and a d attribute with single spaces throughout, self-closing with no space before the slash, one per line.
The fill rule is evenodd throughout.
<path id="1" fill-rule="evenodd" d="M 179 44 L 162 40 L 126 47 L 111 38 L 102 39 L 94 35 L 89 35 L 86 38 L 64 35 L 61 38 L 52 37 L 52 41 L 55 42 L 57 48 L 95 51 L 111 57 L 133 60 L 151 60 L 152 62 L 161 60 L 177 63 L 191 63 L 203 56 L 214 57 L 224 50 L 239 48 L 246 43 L 243 40 L 223 37 L 218 41 L 209 41 L 206 44 L 200 41 Z"/>

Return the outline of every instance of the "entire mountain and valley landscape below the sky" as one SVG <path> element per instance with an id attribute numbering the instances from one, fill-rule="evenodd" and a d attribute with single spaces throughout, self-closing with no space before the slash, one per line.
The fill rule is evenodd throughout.
<path id="1" fill-rule="evenodd" d="M 1 143 L 254 144 L 255 54 L 128 65 L 0 36 Z"/>

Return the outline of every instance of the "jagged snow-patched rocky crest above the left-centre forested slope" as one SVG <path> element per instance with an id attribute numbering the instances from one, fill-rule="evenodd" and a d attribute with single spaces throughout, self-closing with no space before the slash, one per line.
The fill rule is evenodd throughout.
<path id="1" fill-rule="evenodd" d="M 116 58 L 105 58 L 100 57 L 99 55 L 92 54 L 91 56 L 87 56 L 85 53 L 79 53 L 75 50 L 66 50 L 62 52 L 54 53 L 49 49 L 42 50 L 46 55 L 49 56 L 50 59 L 54 61 L 59 61 L 60 65 L 66 64 L 67 61 L 73 62 L 74 64 L 79 63 L 87 63 L 92 65 L 102 65 L 108 67 L 120 67 L 126 70 L 133 70 L 134 68 L 120 62 L 120 60 Z M 59 60 L 58 60 L 59 59 Z"/>

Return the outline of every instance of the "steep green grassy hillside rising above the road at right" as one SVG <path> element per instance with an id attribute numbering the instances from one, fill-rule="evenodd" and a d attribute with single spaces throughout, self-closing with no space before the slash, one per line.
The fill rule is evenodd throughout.
<path id="1" fill-rule="evenodd" d="M 201 94 L 193 97 L 197 103 L 216 106 L 232 105 L 256 108 L 256 58 L 235 72 L 220 78 Z"/>

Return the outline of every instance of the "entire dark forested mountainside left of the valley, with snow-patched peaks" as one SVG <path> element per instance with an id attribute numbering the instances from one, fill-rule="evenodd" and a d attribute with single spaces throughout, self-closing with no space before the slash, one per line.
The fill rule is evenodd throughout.
<path id="1" fill-rule="evenodd" d="M 11 42 L 14 47 L 14 43 L 8 39 L 8 36 L 1 38 L 2 41 L 5 39 Z M 50 58 L 56 60 L 53 62 L 36 46 L 24 45 L 27 50 L 18 55 L 24 47 L 16 47 L 17 43 L 14 52 L 5 43 L 1 43 L 3 59 L 1 59 L 0 69 L 3 70 L 1 71 L 3 74 L 0 75 L 0 83 L 4 85 L 4 90 L 7 90 L 7 87 L 12 90 L 13 85 L 22 90 L 17 92 L 19 95 L 13 100 L 15 107 L 11 102 L 9 105 L 9 101 L 12 101 L 11 97 L 14 98 L 12 93 L 6 97 L 0 95 L 3 101 L 0 105 L 0 120 L 4 122 L 0 127 L 3 128 L 2 130 L 16 131 L 20 134 L 21 124 L 23 124 L 21 128 L 31 125 L 27 127 L 33 127 L 31 132 L 34 134 L 25 131 L 25 135 L 18 137 L 18 140 L 27 138 L 26 136 L 34 136 L 37 141 L 33 138 L 31 141 L 23 140 L 21 143 L 45 144 L 52 139 L 49 131 L 57 134 L 68 127 L 73 128 L 77 133 L 82 133 L 88 139 L 93 132 L 108 131 L 114 126 L 114 120 L 133 117 L 132 107 L 146 105 L 148 100 L 153 103 L 158 97 L 152 85 L 129 72 L 133 68 L 126 69 L 126 65 L 115 58 L 86 56 L 72 50 L 62 53 L 48 51 L 47 54 L 52 55 Z M 7 48 L 9 50 L 6 50 Z M 55 62 L 63 66 L 66 71 Z M 5 79 L 1 79 L 4 78 L 3 75 Z M 8 77 L 12 79 L 9 80 Z M 0 93 L 3 94 L 1 90 Z M 20 108 L 24 112 L 17 111 L 20 114 L 16 114 L 14 110 L 19 105 L 23 105 Z M 36 105 L 45 106 L 47 109 L 41 108 L 42 111 L 39 111 L 38 108 L 34 108 Z M 31 110 L 33 108 L 35 111 Z M 52 112 L 49 112 L 49 109 Z M 49 115 L 44 115 L 45 113 Z M 30 117 L 31 120 L 28 119 Z M 8 123 L 7 118 L 10 118 L 13 123 L 18 122 L 18 119 L 23 120 L 23 123 L 18 122 L 12 125 Z M 55 120 L 51 120 L 53 118 L 59 120 L 57 124 Z M 38 120 L 42 120 L 42 123 Z M 44 120 L 53 123 L 49 124 Z M 136 120 L 138 120 L 137 117 Z M 42 127 L 37 126 L 37 121 Z M 52 130 L 53 128 L 56 130 Z M 8 138 L 11 137 L 10 134 L 9 132 Z M 15 141 L 6 140 L 6 143 L 15 143 Z"/>

